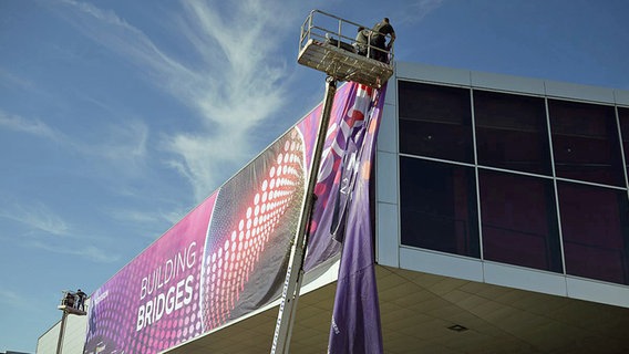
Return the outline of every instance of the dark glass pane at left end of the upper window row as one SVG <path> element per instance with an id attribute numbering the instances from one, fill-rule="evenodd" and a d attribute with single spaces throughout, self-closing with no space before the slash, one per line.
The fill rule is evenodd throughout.
<path id="1" fill-rule="evenodd" d="M 473 163 L 470 90 L 399 81 L 400 152 Z"/>

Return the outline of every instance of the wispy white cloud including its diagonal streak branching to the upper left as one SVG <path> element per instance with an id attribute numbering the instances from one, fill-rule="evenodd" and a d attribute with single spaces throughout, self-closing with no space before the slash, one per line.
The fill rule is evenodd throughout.
<path id="1" fill-rule="evenodd" d="M 68 0 L 69 22 L 133 63 L 156 87 L 179 100 L 199 128 L 163 136 L 168 165 L 188 178 L 197 200 L 251 155 L 251 136 L 285 105 L 286 61 L 279 44 L 293 30 L 290 4 L 269 1 L 185 1 L 171 32 L 189 46 L 169 54 L 116 13 Z M 220 11 L 220 12 L 218 12 Z M 281 21 L 278 21 L 281 13 Z M 226 168 L 228 167 L 228 168 Z"/>

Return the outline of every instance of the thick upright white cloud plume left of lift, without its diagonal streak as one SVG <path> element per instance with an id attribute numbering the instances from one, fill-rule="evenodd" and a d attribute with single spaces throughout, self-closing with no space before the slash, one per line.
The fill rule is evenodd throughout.
<path id="1" fill-rule="evenodd" d="M 246 162 L 255 129 L 285 105 L 286 63 L 277 53 L 293 22 L 279 21 L 279 10 L 269 2 L 238 2 L 230 13 L 198 1 L 186 4 L 190 21 L 185 33 L 209 69 L 198 73 L 190 103 L 213 129 L 176 134 L 169 147 L 182 157 L 178 168 L 200 199 L 228 177 L 217 169 Z"/>

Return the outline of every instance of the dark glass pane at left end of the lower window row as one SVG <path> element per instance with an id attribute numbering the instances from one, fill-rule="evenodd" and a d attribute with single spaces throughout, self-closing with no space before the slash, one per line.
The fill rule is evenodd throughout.
<path id="1" fill-rule="evenodd" d="M 402 244 L 480 258 L 474 169 L 400 157 Z"/>

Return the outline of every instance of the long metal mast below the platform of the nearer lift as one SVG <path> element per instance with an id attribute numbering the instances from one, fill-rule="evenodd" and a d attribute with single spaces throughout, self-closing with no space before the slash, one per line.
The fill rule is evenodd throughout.
<path id="1" fill-rule="evenodd" d="M 321 155 L 326 144 L 326 135 L 328 132 L 328 125 L 330 124 L 330 113 L 332 112 L 336 93 L 337 80 L 332 76 L 326 77 L 323 111 L 321 112 L 321 122 L 319 123 L 314 148 L 312 149 L 312 163 L 308 174 L 308 186 L 301 205 L 299 228 L 295 236 L 286 280 L 283 282 L 271 354 L 289 353 L 288 347 L 290 345 L 290 336 L 292 334 L 292 324 L 295 323 L 297 300 L 299 299 L 299 290 L 303 278 L 303 258 L 306 256 L 306 247 L 308 244 L 308 228 L 310 226 L 310 216 L 312 214 L 314 201 L 317 200 L 314 186 L 317 185 L 317 175 L 319 173 L 319 165 L 321 165 Z M 292 270 L 297 271 L 293 272 Z"/>

